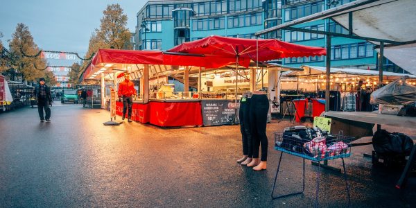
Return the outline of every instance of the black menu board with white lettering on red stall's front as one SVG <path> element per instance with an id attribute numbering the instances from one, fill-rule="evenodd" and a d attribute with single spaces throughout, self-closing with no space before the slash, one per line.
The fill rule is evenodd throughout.
<path id="1" fill-rule="evenodd" d="M 237 123 L 239 122 L 239 108 L 235 110 L 235 101 L 232 100 L 202 100 L 202 122 L 204 125 L 233 124 L 235 112 L 237 112 Z M 239 103 L 237 103 L 239 107 Z"/>

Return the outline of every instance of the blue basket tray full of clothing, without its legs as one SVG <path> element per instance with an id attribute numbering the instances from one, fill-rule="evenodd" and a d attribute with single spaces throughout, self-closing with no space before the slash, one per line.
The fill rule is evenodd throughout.
<path id="1" fill-rule="evenodd" d="M 275 150 L 315 162 L 351 156 L 351 142 L 354 139 L 354 137 L 347 137 L 343 133 L 329 134 L 328 137 L 325 137 L 325 141 L 322 141 L 322 137 L 311 140 L 284 135 L 283 132 L 275 132 L 274 134 Z"/>

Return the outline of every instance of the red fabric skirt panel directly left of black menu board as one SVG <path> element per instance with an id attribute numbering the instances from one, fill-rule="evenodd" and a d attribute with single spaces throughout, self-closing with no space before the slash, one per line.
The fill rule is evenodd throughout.
<path id="1" fill-rule="evenodd" d="M 150 123 L 159 126 L 202 125 L 200 102 L 150 102 Z"/>

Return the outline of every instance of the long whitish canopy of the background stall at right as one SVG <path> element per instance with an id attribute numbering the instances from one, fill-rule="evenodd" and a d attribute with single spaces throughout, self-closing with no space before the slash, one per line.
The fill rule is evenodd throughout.
<path id="1" fill-rule="evenodd" d="M 315 67 L 304 65 L 302 66 L 304 71 L 287 71 L 282 73 L 283 76 L 309 76 L 309 75 L 318 75 L 325 74 L 327 68 L 325 67 Z M 360 75 L 360 76 L 379 76 L 379 71 L 374 70 L 365 70 L 365 69 L 343 69 L 343 68 L 331 68 L 331 73 L 343 73 L 351 75 Z M 408 76 L 409 78 L 416 78 L 415 75 L 410 73 L 395 73 L 390 71 L 383 71 L 383 76 L 399 78 L 402 76 Z"/>

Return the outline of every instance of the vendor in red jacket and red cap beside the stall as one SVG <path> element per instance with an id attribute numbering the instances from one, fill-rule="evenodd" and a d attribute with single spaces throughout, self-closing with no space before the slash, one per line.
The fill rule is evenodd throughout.
<path id="1" fill-rule="evenodd" d="M 123 120 L 128 108 L 128 122 L 132 122 L 132 95 L 136 94 L 135 84 L 130 81 L 130 73 L 124 73 L 124 81 L 119 84 L 119 101 L 123 98 Z"/>

